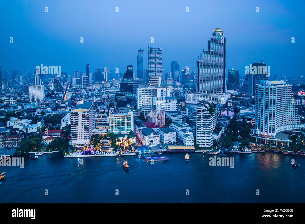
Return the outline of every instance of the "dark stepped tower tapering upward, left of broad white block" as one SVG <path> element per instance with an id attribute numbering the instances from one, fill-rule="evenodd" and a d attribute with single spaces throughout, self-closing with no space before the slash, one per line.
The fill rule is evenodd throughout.
<path id="1" fill-rule="evenodd" d="M 122 97 L 126 97 L 126 105 L 130 102 L 133 101 L 133 69 L 132 69 L 132 65 L 128 65 L 127 66 L 127 71 L 124 74 L 124 77 L 122 79 L 122 83 L 120 85 L 120 92 L 117 94 L 117 104 L 119 107 L 124 106 L 125 102 L 125 98 Z M 121 101 L 122 100 L 122 101 Z M 121 102 L 120 102 L 121 101 Z"/>

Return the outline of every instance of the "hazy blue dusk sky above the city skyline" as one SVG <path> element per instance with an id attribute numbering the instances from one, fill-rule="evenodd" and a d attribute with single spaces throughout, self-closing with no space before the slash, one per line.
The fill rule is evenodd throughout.
<path id="1" fill-rule="evenodd" d="M 9 76 L 13 69 L 34 73 L 40 64 L 61 66 L 70 74 L 85 72 L 87 64 L 92 73 L 102 66 L 124 73 L 131 64 L 136 73 L 140 48 L 147 68 L 149 43 L 162 48 L 165 73 L 172 60 L 192 71 L 219 27 L 227 41 L 227 70 L 234 67 L 244 74 L 244 67 L 253 62 L 252 52 L 256 61 L 264 55 L 271 76 L 301 76 L 304 6 L 303 1 L 288 0 L 1 1 L 0 65 Z"/>

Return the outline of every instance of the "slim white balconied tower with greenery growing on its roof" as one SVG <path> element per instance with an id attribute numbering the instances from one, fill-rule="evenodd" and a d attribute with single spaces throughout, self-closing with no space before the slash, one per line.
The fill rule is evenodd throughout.
<path id="1" fill-rule="evenodd" d="M 213 145 L 213 130 L 216 126 L 216 111 L 212 101 L 201 101 L 197 104 L 196 143 L 199 147 Z"/>

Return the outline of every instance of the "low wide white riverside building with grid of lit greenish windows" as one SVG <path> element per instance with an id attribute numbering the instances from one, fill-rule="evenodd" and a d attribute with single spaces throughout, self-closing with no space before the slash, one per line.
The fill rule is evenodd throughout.
<path id="1" fill-rule="evenodd" d="M 133 112 L 109 114 L 108 124 L 109 132 L 114 134 L 128 134 L 134 130 Z"/>

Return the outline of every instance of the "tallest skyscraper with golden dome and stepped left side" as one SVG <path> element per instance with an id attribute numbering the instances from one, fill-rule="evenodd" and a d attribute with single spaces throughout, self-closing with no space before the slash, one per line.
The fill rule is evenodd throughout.
<path id="1" fill-rule="evenodd" d="M 226 91 L 226 38 L 217 28 L 210 37 L 208 50 L 197 61 L 196 91 L 203 94 L 224 94 Z"/>

